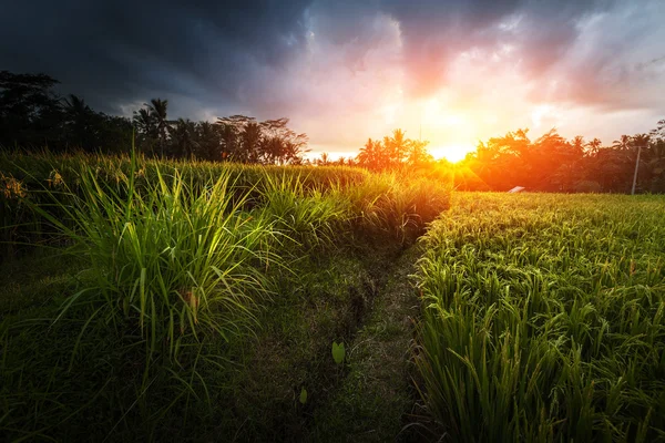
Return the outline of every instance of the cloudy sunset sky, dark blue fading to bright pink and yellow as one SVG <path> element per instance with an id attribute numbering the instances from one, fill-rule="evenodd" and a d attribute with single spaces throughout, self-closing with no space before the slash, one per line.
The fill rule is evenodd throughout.
<path id="1" fill-rule="evenodd" d="M 665 0 L 8 3 L 0 70 L 111 114 L 286 116 L 314 155 L 398 127 L 450 159 L 518 128 L 611 145 L 665 117 Z"/>

